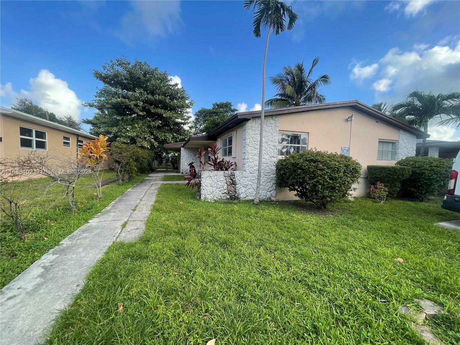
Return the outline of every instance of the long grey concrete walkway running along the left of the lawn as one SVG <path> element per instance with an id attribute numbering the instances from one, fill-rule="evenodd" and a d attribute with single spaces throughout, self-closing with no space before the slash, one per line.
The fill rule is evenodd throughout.
<path id="1" fill-rule="evenodd" d="M 115 239 L 132 241 L 143 233 L 165 174 L 151 173 L 132 186 L 1 289 L 1 345 L 35 345 L 45 340 L 59 311 L 72 302 L 110 244 Z"/>

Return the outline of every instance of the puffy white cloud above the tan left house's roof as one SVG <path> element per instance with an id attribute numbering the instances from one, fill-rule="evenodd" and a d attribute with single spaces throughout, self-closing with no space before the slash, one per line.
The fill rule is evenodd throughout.
<path id="1" fill-rule="evenodd" d="M 0 95 L 11 98 L 14 102 L 19 96 L 32 98 L 41 107 L 58 116 L 71 115 L 80 118 L 81 100 L 69 89 L 66 81 L 57 79 L 49 70 L 42 69 L 35 78 L 29 80 L 30 90 L 14 92 L 11 83 L 1 87 Z"/>

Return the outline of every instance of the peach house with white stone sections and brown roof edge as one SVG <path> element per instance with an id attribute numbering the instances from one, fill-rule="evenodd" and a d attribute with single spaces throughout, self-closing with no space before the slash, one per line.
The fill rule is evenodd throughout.
<path id="1" fill-rule="evenodd" d="M 197 163 L 194 155 L 198 149 L 216 143 L 222 147 L 221 157 L 236 162 L 236 171 L 202 172 L 201 199 L 225 200 L 230 194 L 252 200 L 257 181 L 259 128 L 260 110 L 237 113 L 211 133 L 165 148 L 180 149 L 181 173 L 188 173 L 187 164 Z M 292 152 L 314 148 L 349 154 L 359 161 L 362 175 L 354 195 L 365 196 L 368 165 L 394 165 L 404 157 L 414 156 L 417 139 L 426 137 L 429 135 L 419 129 L 356 100 L 267 109 L 260 198 L 295 199 L 293 192 L 276 188 L 276 161 Z"/>

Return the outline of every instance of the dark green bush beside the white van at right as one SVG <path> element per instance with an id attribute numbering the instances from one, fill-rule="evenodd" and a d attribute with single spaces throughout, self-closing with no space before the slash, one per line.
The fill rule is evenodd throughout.
<path id="1" fill-rule="evenodd" d="M 447 187 L 452 160 L 437 157 L 407 157 L 396 163 L 401 167 L 411 167 L 408 178 L 403 180 L 403 190 L 410 195 L 426 201 L 426 197 Z"/>

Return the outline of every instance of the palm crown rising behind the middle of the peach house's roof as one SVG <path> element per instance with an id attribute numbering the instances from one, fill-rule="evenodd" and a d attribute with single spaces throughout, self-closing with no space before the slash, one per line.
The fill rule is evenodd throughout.
<path id="1" fill-rule="evenodd" d="M 331 78 L 327 74 L 321 75 L 316 80 L 311 78 L 318 62 L 319 57 L 315 57 L 308 73 L 302 62 L 297 63 L 294 68 L 285 66 L 282 73 L 270 77 L 278 93 L 274 98 L 268 99 L 265 105 L 270 108 L 285 108 L 326 102 L 326 96 L 318 90 L 318 87 L 329 85 Z"/>

